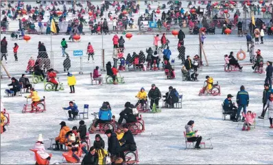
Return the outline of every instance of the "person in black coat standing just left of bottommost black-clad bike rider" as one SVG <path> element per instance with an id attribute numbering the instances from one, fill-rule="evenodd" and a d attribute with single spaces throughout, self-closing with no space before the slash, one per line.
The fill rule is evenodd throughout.
<path id="1" fill-rule="evenodd" d="M 112 132 L 110 129 L 107 129 L 105 134 L 108 136 L 108 152 L 111 155 L 111 161 L 115 162 L 115 160 L 119 158 L 119 152 L 121 149 L 119 140 L 117 140 L 117 134 Z"/>

